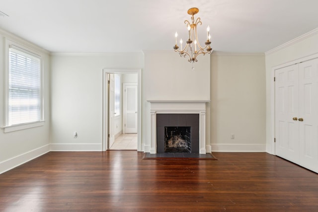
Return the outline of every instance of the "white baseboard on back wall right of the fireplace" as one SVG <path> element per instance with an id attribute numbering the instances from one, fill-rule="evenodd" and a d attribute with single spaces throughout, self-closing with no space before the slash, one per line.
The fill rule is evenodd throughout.
<path id="1" fill-rule="evenodd" d="M 265 152 L 265 144 L 211 144 L 211 150 L 224 152 Z"/>

